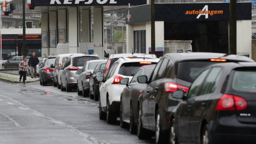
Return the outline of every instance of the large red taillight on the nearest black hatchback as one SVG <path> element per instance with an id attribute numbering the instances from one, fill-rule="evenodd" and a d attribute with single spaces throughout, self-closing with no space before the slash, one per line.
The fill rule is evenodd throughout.
<path id="1" fill-rule="evenodd" d="M 243 110 L 246 107 L 247 101 L 244 98 L 231 94 L 223 94 L 215 110 Z"/>

